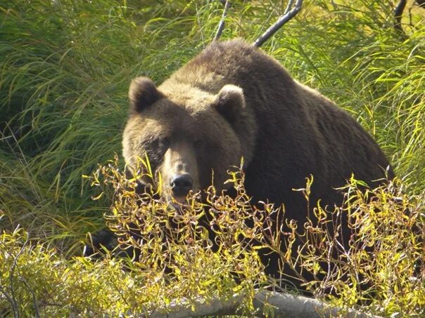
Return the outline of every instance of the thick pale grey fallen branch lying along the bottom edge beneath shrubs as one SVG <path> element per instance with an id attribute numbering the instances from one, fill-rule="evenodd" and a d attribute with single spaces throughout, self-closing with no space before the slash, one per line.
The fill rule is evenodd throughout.
<path id="1" fill-rule="evenodd" d="M 241 314 L 240 308 L 244 300 L 245 297 L 235 295 L 228 300 L 215 298 L 208 303 L 200 300 L 194 306 L 189 303 L 179 303 L 171 305 L 170 310 L 167 312 L 153 312 L 151 317 L 199 317 Z M 290 293 L 276 293 L 273 291 L 260 291 L 257 293 L 253 300 L 253 306 L 256 310 L 256 317 L 265 317 L 266 313 L 274 317 L 300 318 L 336 317 L 338 313 L 344 314 L 344 317 L 377 317 L 355 310 L 345 310 L 344 312 L 336 308 L 330 308 L 328 305 L 313 298 L 295 296 Z"/>

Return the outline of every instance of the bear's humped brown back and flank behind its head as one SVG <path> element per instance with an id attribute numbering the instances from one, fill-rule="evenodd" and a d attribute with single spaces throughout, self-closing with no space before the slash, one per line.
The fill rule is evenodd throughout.
<path id="1" fill-rule="evenodd" d="M 315 177 L 313 199 L 328 204 L 338 203 L 333 188 L 352 173 L 367 183 L 385 177 L 388 160 L 360 124 L 241 39 L 213 42 L 165 84 L 213 94 L 226 84 L 243 89 L 246 109 L 257 123 L 245 183 L 255 199 L 286 203 L 298 213 L 305 200 L 293 189 L 304 187 L 310 175 Z M 393 177 L 391 170 L 388 176 Z"/>

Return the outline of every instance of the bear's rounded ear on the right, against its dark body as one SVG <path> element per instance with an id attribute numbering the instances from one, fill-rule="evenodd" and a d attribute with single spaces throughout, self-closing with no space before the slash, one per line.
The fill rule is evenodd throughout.
<path id="1" fill-rule="evenodd" d="M 245 107 L 242 88 L 231 84 L 224 85 L 215 97 L 213 105 L 229 123 L 234 123 Z"/>

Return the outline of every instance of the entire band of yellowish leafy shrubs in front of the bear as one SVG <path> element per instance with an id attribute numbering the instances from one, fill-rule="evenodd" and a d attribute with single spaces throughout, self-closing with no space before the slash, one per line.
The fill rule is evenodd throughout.
<path id="1" fill-rule="evenodd" d="M 142 175 L 153 178 L 148 171 Z M 282 281 L 265 276 L 258 257 L 265 249 L 278 253 L 279 263 L 296 271 L 317 298 L 341 309 L 363 305 L 362 310 L 375 314 L 423 313 L 424 202 L 404 194 L 397 180 L 367 191 L 351 180 L 344 204 L 335 211 L 318 206 L 305 225 L 287 220 L 277 227 L 274 221 L 284 217 L 284 209 L 250 204 L 239 172 L 229 179 L 236 196 L 209 187 L 206 199 L 194 193 L 187 204 L 175 202 L 174 207 L 156 192 L 137 194 L 137 178 L 125 178 L 118 159 L 88 178 L 101 190 L 96 199 L 113 191 L 106 219 L 120 245 L 112 253 L 128 257 L 111 258 L 101 249 L 98 262 L 65 260 L 55 249 L 30 240 L 23 229 L 4 232 L 3 314 L 147 315 L 172 310 L 176 303 L 208 303 L 235 293 L 245 298 L 241 312 L 253 314 L 255 289 L 280 289 L 288 279 L 284 267 Z M 303 190 L 306 199 L 310 185 Z M 342 215 L 348 216 L 353 235 L 348 246 L 341 234 Z"/>

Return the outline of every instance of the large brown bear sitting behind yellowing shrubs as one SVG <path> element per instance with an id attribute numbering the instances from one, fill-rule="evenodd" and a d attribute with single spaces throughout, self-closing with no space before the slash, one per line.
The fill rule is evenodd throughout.
<path id="1" fill-rule="evenodd" d="M 310 175 L 310 206 L 341 203 L 335 188 L 352 174 L 372 186 L 393 178 L 379 146 L 347 112 L 241 39 L 213 42 L 158 88 L 134 79 L 129 100 L 125 161 L 135 168 L 147 154 L 167 199 L 184 201 L 212 180 L 224 189 L 227 171 L 243 158 L 253 202 L 284 204 L 285 217 L 302 225 L 307 202 L 293 189 Z M 276 258 L 263 261 L 277 274 Z"/>

